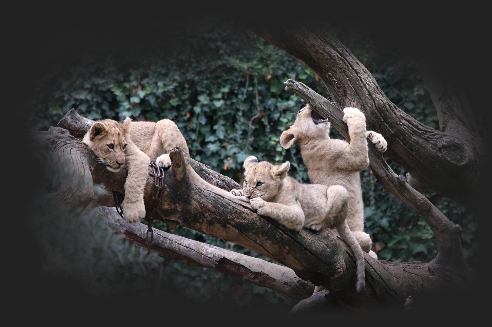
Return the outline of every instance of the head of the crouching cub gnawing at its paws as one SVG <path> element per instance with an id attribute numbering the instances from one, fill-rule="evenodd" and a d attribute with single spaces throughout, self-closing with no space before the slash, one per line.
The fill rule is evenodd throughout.
<path id="1" fill-rule="evenodd" d="M 249 198 L 261 197 L 269 201 L 277 195 L 282 181 L 287 176 L 290 163 L 270 164 L 266 161 L 258 162 L 255 156 L 249 156 L 244 163 L 245 181 L 243 190 Z"/>

